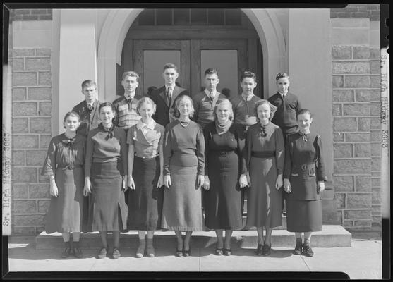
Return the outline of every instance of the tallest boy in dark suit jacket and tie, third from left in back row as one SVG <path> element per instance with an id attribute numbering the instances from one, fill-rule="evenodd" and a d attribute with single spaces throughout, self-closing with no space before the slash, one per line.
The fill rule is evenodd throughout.
<path id="1" fill-rule="evenodd" d="M 174 121 L 172 114 L 176 97 L 182 94 L 189 95 L 189 93 L 188 90 L 176 85 L 176 78 L 179 78 L 179 73 L 173 63 L 165 64 L 162 78 L 164 78 L 165 85 L 157 90 L 153 90 L 151 98 L 157 106 L 153 116 L 154 120 L 166 126 L 171 121 Z"/>

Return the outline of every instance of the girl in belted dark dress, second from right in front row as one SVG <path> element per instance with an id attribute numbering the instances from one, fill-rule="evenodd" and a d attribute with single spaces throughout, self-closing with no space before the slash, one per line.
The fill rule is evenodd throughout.
<path id="1" fill-rule="evenodd" d="M 257 255 L 270 255 L 272 230 L 282 226 L 282 171 L 284 168 L 284 137 L 282 130 L 271 123 L 276 107 L 260 100 L 255 103 L 258 123 L 247 130 L 247 167 L 250 189 L 247 197 L 247 226 L 258 232 Z M 266 229 L 265 240 L 263 227 Z"/>

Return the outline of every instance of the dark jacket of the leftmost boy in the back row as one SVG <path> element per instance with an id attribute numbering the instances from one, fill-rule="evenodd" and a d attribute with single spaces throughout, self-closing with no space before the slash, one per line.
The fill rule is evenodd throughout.
<path id="1" fill-rule="evenodd" d="M 73 111 L 77 112 L 80 116 L 80 125 L 77 130 L 80 135 L 87 137 L 89 131 L 97 128 L 99 123 L 101 123 L 98 112 L 99 105 L 101 105 L 101 102 L 95 99 L 95 102 L 93 103 L 94 109 L 92 109 L 91 112 L 87 109 L 86 100 L 83 100 L 73 107 Z"/>

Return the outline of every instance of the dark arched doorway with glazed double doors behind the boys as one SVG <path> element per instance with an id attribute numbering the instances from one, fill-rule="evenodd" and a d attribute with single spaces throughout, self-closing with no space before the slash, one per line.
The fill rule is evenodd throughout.
<path id="1" fill-rule="evenodd" d="M 175 63 L 182 87 L 196 94 L 203 87 L 206 68 L 216 68 L 218 90 L 239 94 L 238 80 L 243 71 L 257 75 L 255 94 L 263 97 L 262 47 L 253 24 L 240 9 L 145 9 L 133 21 L 123 43 L 123 71 L 140 73 L 139 94 L 151 86 L 162 86 L 162 66 Z M 123 89 L 118 83 L 117 94 Z"/>

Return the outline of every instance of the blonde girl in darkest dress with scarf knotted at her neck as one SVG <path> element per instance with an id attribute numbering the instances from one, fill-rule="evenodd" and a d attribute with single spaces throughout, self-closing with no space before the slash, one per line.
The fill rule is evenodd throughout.
<path id="1" fill-rule="evenodd" d="M 241 190 L 247 185 L 243 156 L 245 134 L 234 123 L 232 104 L 219 99 L 214 120 L 204 128 L 205 136 L 205 216 L 206 226 L 217 235 L 216 255 L 231 255 L 233 230 L 243 228 Z M 222 231 L 225 229 L 225 241 Z"/>

